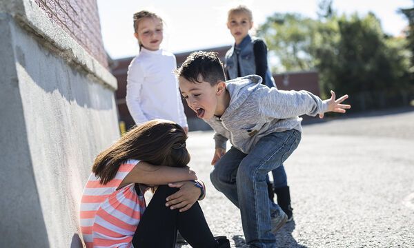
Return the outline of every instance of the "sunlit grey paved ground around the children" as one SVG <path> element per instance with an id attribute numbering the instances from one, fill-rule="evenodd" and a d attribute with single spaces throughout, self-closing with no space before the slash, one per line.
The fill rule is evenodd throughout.
<path id="1" fill-rule="evenodd" d="M 213 234 L 244 243 L 239 210 L 211 185 L 213 132 L 190 132 Z M 295 221 L 277 247 L 414 247 L 414 110 L 304 125 L 286 161 Z M 177 247 L 189 247 L 177 245 Z"/>

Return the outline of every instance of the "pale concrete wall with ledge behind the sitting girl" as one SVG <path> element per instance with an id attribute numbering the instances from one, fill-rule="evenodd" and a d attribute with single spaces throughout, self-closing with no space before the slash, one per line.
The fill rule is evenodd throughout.
<path id="1" fill-rule="evenodd" d="M 83 186 L 119 137 L 116 80 L 34 1 L 1 1 L 0 55 L 0 247 L 81 247 Z"/>

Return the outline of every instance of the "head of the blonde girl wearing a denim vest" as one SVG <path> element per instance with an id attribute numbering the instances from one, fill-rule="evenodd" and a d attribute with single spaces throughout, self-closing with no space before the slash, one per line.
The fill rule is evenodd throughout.
<path id="1" fill-rule="evenodd" d="M 238 45 L 247 36 L 248 31 L 253 28 L 253 14 L 251 10 L 246 6 L 237 6 L 228 10 L 227 28 L 235 38 L 236 45 Z"/>

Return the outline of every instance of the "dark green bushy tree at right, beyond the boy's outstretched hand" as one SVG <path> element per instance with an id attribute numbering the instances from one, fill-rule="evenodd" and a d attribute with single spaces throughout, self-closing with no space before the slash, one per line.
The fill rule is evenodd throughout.
<path id="1" fill-rule="evenodd" d="M 395 91 L 407 86 L 406 57 L 392 46 L 374 14 L 342 16 L 337 20 L 339 40 L 331 47 L 328 63 L 316 48 L 317 68 L 326 78 L 325 92 L 335 87 L 340 93 Z M 335 40 L 335 39 L 334 39 Z M 329 83 L 328 83 L 329 82 Z"/>

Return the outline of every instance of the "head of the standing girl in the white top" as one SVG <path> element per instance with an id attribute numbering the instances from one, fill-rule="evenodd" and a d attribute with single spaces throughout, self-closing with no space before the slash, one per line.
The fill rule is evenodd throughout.
<path id="1" fill-rule="evenodd" d="M 159 50 L 163 37 L 163 23 L 161 17 L 153 12 L 142 10 L 134 14 L 134 36 L 142 47 L 155 51 Z"/>

